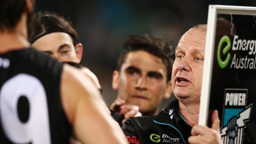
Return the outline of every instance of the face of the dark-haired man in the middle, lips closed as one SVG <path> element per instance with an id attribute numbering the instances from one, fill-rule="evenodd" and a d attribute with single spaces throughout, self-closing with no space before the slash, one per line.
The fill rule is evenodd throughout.
<path id="1" fill-rule="evenodd" d="M 118 85 L 118 97 L 139 106 L 143 115 L 156 114 L 166 88 L 171 88 L 162 60 L 143 50 L 129 52 L 117 75 L 113 83 Z"/>

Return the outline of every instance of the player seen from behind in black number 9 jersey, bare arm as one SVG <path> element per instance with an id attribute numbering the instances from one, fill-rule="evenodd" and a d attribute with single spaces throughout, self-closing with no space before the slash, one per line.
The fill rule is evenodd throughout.
<path id="1" fill-rule="evenodd" d="M 0 143 L 62 144 L 71 133 L 83 143 L 126 143 L 87 76 L 28 48 L 32 10 L 31 0 L 0 1 Z"/>

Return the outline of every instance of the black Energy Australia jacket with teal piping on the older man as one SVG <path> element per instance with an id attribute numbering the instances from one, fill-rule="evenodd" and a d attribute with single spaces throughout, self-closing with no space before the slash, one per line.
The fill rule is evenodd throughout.
<path id="1" fill-rule="evenodd" d="M 129 118 L 122 130 L 130 144 L 188 144 L 191 127 L 179 112 L 178 100 L 174 100 L 156 116 Z"/>

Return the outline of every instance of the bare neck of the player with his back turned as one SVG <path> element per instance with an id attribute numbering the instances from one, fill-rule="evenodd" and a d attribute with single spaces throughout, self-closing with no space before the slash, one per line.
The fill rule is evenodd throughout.
<path id="1" fill-rule="evenodd" d="M 26 15 L 23 14 L 13 30 L 6 29 L 0 32 L 0 53 L 29 47 L 27 37 Z"/>

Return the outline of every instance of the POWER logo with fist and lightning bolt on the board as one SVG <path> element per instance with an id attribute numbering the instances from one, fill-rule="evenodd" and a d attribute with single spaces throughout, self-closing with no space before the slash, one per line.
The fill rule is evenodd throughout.
<path id="1" fill-rule="evenodd" d="M 252 103 L 247 105 L 247 93 L 247 89 L 225 89 L 221 125 L 223 144 L 243 144 L 243 132 L 252 111 Z"/>

